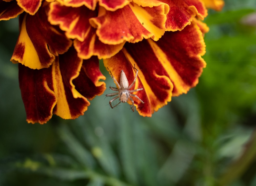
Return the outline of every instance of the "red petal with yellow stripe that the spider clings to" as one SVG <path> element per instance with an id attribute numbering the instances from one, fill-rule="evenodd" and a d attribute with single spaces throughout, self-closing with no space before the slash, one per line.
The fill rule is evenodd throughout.
<path id="1" fill-rule="evenodd" d="M 142 42 L 144 42 L 144 40 Z M 135 45 L 137 45 L 137 43 L 135 43 Z M 123 70 L 129 81 L 129 85 L 135 77 L 135 70 L 133 68 L 135 64 L 135 67 L 138 68 L 139 72 L 136 83 L 131 90 L 143 88 L 143 90 L 133 92 L 133 94 L 137 95 L 144 104 L 138 99 L 133 98 L 134 105 L 140 115 L 151 117 L 154 111 L 157 111 L 158 108 L 164 106 L 167 104 L 167 101 L 171 100 L 173 84 L 170 79 L 164 75 L 164 71 L 161 68 L 157 68 L 157 65 L 159 64 L 156 63 L 157 61 L 154 61 L 157 60 L 156 57 L 150 55 L 150 57 L 154 57 L 154 59 L 150 62 L 146 61 L 143 63 L 144 55 L 145 53 L 143 53 L 143 56 L 141 57 L 138 56 L 138 58 L 140 58 L 139 60 L 133 59 L 132 56 L 124 49 L 110 59 L 105 59 L 103 61 L 105 67 L 110 69 L 118 82 L 120 82 L 120 73 L 121 70 Z M 153 67 L 150 65 L 153 65 Z"/>

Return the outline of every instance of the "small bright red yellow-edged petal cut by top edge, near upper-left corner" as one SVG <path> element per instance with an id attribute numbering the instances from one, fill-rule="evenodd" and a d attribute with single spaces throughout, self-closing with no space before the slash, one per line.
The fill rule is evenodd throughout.
<path id="1" fill-rule="evenodd" d="M 35 15 L 42 4 L 42 0 L 17 0 L 18 5 L 30 15 Z"/>

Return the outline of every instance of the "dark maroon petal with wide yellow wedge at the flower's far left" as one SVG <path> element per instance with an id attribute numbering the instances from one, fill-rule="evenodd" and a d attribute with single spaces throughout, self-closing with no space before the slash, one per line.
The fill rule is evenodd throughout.
<path id="1" fill-rule="evenodd" d="M 32 69 L 47 68 L 55 61 L 55 56 L 72 45 L 58 27 L 48 22 L 46 9 L 47 6 L 41 7 L 34 16 L 20 15 L 20 34 L 11 58 L 13 63 Z"/>

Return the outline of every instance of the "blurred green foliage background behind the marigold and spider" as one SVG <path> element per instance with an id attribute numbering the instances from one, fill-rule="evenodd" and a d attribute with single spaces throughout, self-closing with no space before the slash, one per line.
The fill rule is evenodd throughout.
<path id="1" fill-rule="evenodd" d="M 18 20 L 1 21 L 0 185 L 256 185 L 256 2 L 225 3 L 205 19 L 199 84 L 152 118 L 102 95 L 77 120 L 27 124 L 9 61 Z"/>

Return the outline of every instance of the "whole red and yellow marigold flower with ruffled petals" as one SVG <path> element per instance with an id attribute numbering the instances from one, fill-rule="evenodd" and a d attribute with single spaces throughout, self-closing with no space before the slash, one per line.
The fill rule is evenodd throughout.
<path id="1" fill-rule="evenodd" d="M 102 95 L 99 59 L 119 81 L 123 70 L 145 103 L 142 116 L 196 86 L 206 66 L 202 23 L 206 6 L 221 0 L 0 0 L 0 20 L 19 15 L 20 34 L 11 61 L 19 63 L 19 84 L 29 123 L 56 114 L 75 119 L 88 101 Z"/>

